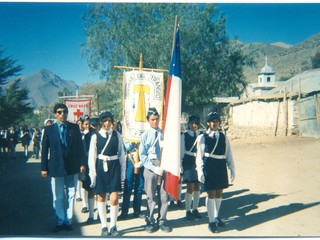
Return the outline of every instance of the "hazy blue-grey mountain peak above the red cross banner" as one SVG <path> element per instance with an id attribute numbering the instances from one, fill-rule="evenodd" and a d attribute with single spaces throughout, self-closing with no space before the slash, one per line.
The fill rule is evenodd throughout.
<path id="1" fill-rule="evenodd" d="M 31 106 L 40 108 L 58 102 L 58 92 L 67 89 L 75 95 L 79 86 L 70 80 L 64 80 L 47 69 L 41 69 L 29 77 L 21 77 L 21 86 L 29 89 Z"/>

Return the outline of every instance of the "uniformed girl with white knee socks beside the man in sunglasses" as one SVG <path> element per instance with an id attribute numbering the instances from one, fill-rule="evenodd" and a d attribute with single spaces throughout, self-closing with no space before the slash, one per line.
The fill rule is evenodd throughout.
<path id="1" fill-rule="evenodd" d="M 89 176 L 97 195 L 101 236 L 109 235 L 106 218 L 107 193 L 110 194 L 110 235 L 118 236 L 116 227 L 119 212 L 121 181 L 125 179 L 126 162 L 121 134 L 112 129 L 111 112 L 99 115 L 101 129 L 91 137 L 89 148 Z"/>

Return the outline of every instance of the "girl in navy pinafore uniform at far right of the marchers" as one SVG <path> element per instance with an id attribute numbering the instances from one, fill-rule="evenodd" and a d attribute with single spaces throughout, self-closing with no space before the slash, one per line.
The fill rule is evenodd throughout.
<path id="1" fill-rule="evenodd" d="M 235 178 L 235 166 L 227 136 L 220 132 L 220 115 L 210 112 L 206 117 L 208 130 L 198 137 L 196 166 L 198 180 L 204 183 L 207 192 L 206 206 L 209 216 L 208 229 L 215 233 L 218 227 L 225 227 L 219 218 L 223 189 L 228 188 Z"/>

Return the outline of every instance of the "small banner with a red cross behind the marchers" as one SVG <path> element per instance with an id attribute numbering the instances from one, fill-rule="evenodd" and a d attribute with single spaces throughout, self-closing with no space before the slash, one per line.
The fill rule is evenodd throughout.
<path id="1" fill-rule="evenodd" d="M 89 99 L 69 99 L 64 100 L 67 105 L 69 114 L 68 121 L 75 123 L 81 116 L 91 116 L 91 100 Z"/>

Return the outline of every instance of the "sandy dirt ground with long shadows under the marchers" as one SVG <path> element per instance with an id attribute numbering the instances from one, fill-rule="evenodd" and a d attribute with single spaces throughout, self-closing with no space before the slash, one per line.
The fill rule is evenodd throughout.
<path id="1" fill-rule="evenodd" d="M 144 231 L 144 220 L 118 221 L 123 237 L 320 237 L 320 142 L 313 138 L 264 137 L 231 141 L 236 177 L 224 191 L 220 215 L 226 227 L 208 230 L 205 197 L 202 218 L 186 221 L 185 210 L 168 212 L 171 233 Z M 19 148 L 18 148 L 19 150 Z M 22 153 L 21 153 L 22 156 Z M 182 189 L 184 202 L 185 185 Z M 121 202 L 121 200 L 120 200 Z M 100 236 L 100 223 L 86 225 L 88 214 L 75 203 L 74 231 L 57 236 Z M 130 209 L 132 211 L 132 209 Z M 143 201 L 143 211 L 146 202 Z M 129 212 L 131 213 L 131 212 Z M 95 213 L 95 216 L 97 213 Z M 53 236 L 49 181 L 40 177 L 39 160 L 1 159 L 0 235 Z"/>

